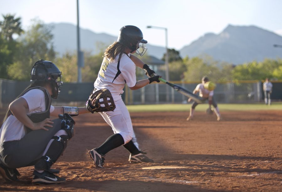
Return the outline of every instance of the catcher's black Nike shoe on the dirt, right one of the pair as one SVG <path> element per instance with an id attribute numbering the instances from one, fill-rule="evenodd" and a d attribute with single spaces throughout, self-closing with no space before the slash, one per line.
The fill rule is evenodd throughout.
<path id="1" fill-rule="evenodd" d="M 50 173 L 48 171 L 43 171 L 39 173 L 34 170 L 32 175 L 32 184 L 60 184 L 65 183 L 65 178 L 58 177 L 57 175 Z"/>

